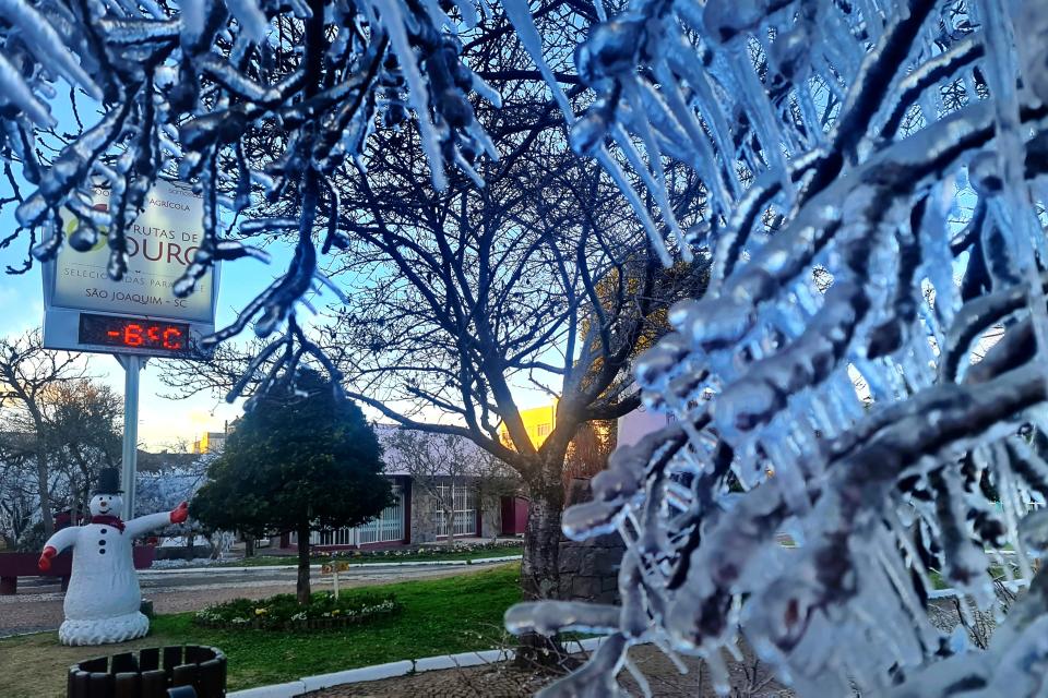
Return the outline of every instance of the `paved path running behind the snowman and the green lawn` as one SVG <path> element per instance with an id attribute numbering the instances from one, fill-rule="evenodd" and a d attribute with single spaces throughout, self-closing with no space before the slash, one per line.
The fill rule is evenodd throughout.
<path id="1" fill-rule="evenodd" d="M 404 564 L 396 567 L 365 565 L 338 575 L 338 587 L 388 585 L 412 579 L 436 579 L 468 575 L 490 565 L 477 564 L 433 567 Z M 141 574 L 142 595 L 153 601 L 157 613 L 198 611 L 213 603 L 237 598 L 262 599 L 277 593 L 294 593 L 297 571 L 255 567 L 229 570 L 214 567 L 198 571 L 170 571 L 163 575 Z M 331 588 L 331 577 L 314 570 L 310 579 L 313 591 Z M 0 597 L 0 637 L 22 633 L 58 629 L 62 623 L 62 599 L 59 585 L 47 578 L 20 580 L 19 593 Z"/>

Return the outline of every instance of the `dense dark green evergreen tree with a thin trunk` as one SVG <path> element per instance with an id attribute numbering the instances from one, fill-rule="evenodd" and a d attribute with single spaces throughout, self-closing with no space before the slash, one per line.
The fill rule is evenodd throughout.
<path id="1" fill-rule="evenodd" d="M 230 434 L 192 516 L 213 529 L 298 533 L 298 601 L 309 603 L 309 533 L 357 526 L 391 502 L 382 448 L 364 414 L 301 371 L 260 396 Z"/>

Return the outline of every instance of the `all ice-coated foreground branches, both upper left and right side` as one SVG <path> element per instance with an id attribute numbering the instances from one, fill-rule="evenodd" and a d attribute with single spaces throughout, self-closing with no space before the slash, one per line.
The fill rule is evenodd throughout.
<path id="1" fill-rule="evenodd" d="M 806 695 L 1035 694 L 1048 577 L 1031 557 L 1048 521 L 1021 502 L 1048 494 L 1048 12 L 1011 0 L 634 0 L 609 16 L 598 1 L 579 17 L 597 20 L 575 52 L 582 88 L 565 94 L 547 60 L 563 47 L 536 29 L 547 8 L 501 8 L 573 147 L 620 188 L 662 261 L 703 249 L 713 261 L 710 292 L 679 304 L 676 332 L 636 363 L 644 399 L 675 424 L 620 449 L 594 502 L 564 518 L 573 537 L 623 534 L 623 605 L 508 618 L 517 631 L 609 635 L 555 691 L 618 691 L 641 641 L 705 657 L 723 687 L 720 651 L 741 627 Z M 177 169 L 206 217 L 180 293 L 214 260 L 260 254 L 240 238 L 297 238 L 287 274 L 214 341 L 254 321 L 281 337 L 252 370 L 309 356 L 338 376 L 294 315 L 326 282 L 314 237 L 321 252 L 349 249 L 344 221 L 357 222 L 330 178 L 364 161 L 378 115 L 395 123 L 409 107 L 434 190 L 451 168 L 480 179 L 475 156 L 499 154 L 466 99 L 495 95 L 457 52 L 473 10 L 0 2 L 0 149 L 23 227 L 0 244 L 53 254 L 68 206 L 82 221 L 70 244 L 105 231 L 119 277 L 127 226 Z M 48 131 L 58 84 L 103 104 L 102 118 Z M 271 137 L 246 153 L 254 130 Z M 706 193 L 693 220 L 674 208 L 680 168 Z M 106 213 L 90 205 L 98 179 L 116 203 Z M 283 202 L 283 215 L 221 229 L 219 206 L 242 213 L 258 197 Z M 465 257 L 449 264 L 462 272 Z M 832 279 L 824 293 L 814 274 Z M 969 366 L 972 344 L 999 324 L 1001 341 Z M 848 370 L 869 385 L 869 410 Z M 800 547 L 782 549 L 781 531 Z M 1004 543 L 1031 592 L 973 652 L 927 622 L 930 573 L 989 603 L 986 549 Z"/>

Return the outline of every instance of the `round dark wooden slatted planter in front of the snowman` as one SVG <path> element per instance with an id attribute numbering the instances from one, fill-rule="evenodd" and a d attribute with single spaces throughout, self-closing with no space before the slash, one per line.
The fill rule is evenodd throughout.
<path id="1" fill-rule="evenodd" d="M 151 647 L 69 667 L 67 698 L 168 698 L 192 688 L 196 698 L 226 695 L 226 655 L 214 647 Z M 182 695 L 180 691 L 179 695 Z"/>

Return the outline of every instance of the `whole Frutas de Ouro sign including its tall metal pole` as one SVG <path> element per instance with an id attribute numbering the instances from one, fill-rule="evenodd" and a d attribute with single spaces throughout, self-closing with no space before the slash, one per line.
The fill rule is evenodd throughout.
<path id="1" fill-rule="evenodd" d="M 2 98 L 0 98 L 2 101 Z M 92 181 L 92 206 L 108 210 L 110 189 L 103 181 Z M 193 194 L 189 184 L 158 181 L 150 190 L 148 206 L 135 219 L 134 268 L 123 281 L 105 274 L 84 274 L 84 267 L 105 270 L 109 250 L 104 244 L 76 252 L 69 245 L 59 245 L 58 254 L 44 263 L 44 348 L 67 351 L 97 351 L 114 354 L 124 370 L 123 390 L 123 518 L 134 514 L 139 443 L 139 372 L 146 357 L 198 356 L 194 344 L 215 332 L 215 309 L 218 298 L 218 262 L 210 279 L 201 279 L 200 288 L 189 299 L 175 298 L 167 280 L 184 274 L 190 264 L 190 251 L 198 249 L 205 236 L 199 222 L 203 220 L 204 204 Z M 178 213 L 176 213 L 178 212 Z M 71 230 L 76 216 L 72 210 L 60 212 L 61 228 Z M 195 224 L 194 224 L 195 221 Z M 55 234 L 55 228 L 50 234 Z M 166 240 L 157 241 L 167 255 L 150 257 L 146 253 L 145 231 L 163 230 Z M 176 242 L 178 231 L 178 242 Z M 50 238 L 47 238 L 50 239 Z M 154 289 L 130 292 L 128 284 Z M 166 290 L 159 290 L 159 289 Z M 147 314 L 143 314 L 146 310 Z M 187 351 L 190 350 L 190 351 Z M 128 352 L 128 353 L 119 353 Z"/>

